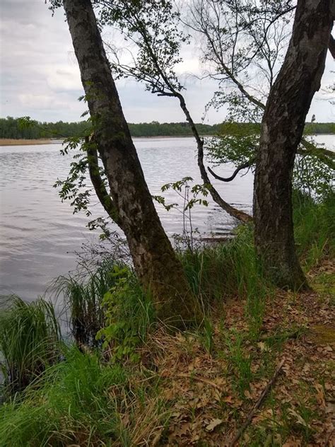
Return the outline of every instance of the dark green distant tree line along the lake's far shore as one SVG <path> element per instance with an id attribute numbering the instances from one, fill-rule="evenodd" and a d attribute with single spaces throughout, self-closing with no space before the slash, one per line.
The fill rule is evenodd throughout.
<path id="1" fill-rule="evenodd" d="M 21 118 L 0 118 L 0 138 L 10 139 L 41 139 L 41 138 L 68 138 L 80 137 L 88 129 L 90 122 L 39 122 L 30 120 L 29 125 L 23 124 Z M 218 134 L 251 134 L 259 133 L 261 124 L 254 123 L 223 123 L 223 124 L 196 124 L 201 135 Z M 141 122 L 129 123 L 133 137 L 191 137 L 192 129 L 187 122 Z M 335 122 L 308 122 L 305 125 L 306 134 L 335 134 Z"/>

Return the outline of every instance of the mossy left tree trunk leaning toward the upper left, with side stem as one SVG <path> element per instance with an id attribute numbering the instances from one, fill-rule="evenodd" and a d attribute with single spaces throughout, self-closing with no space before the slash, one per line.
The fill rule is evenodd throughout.
<path id="1" fill-rule="evenodd" d="M 112 79 L 90 0 L 64 0 L 94 141 L 110 185 L 99 189 L 94 149 L 90 175 L 102 204 L 124 231 L 136 273 L 153 296 L 158 318 L 181 324 L 197 313 L 182 265 L 158 218 Z"/>

